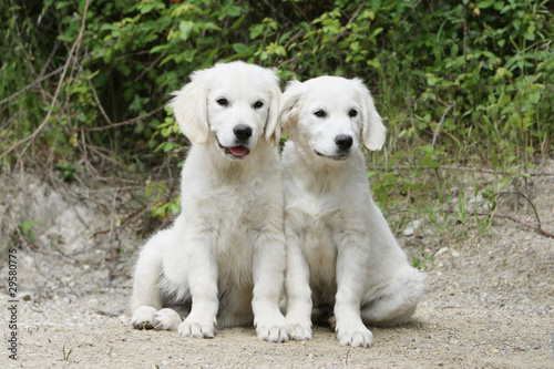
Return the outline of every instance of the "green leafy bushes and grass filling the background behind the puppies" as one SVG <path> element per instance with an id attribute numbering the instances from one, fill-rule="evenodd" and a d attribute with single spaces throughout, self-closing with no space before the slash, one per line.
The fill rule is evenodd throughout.
<path id="1" fill-rule="evenodd" d="M 510 173 L 497 191 L 552 154 L 546 1 L 10 0 L 0 22 L 0 152 L 13 150 L 4 167 L 51 105 L 32 147 L 52 153 L 66 181 L 85 154 L 92 166 L 103 167 L 106 153 L 143 163 L 167 155 L 175 164 L 187 142 L 163 107 L 170 92 L 192 71 L 236 59 L 275 68 L 284 81 L 362 78 L 389 133 L 386 151 L 368 161 L 376 198 L 425 209 L 441 227 L 448 219 L 438 204 L 458 196 L 453 217 L 468 216 L 462 191 L 448 191 L 456 178 L 441 168 Z M 153 216 L 178 209 L 165 189 L 148 191 Z"/>

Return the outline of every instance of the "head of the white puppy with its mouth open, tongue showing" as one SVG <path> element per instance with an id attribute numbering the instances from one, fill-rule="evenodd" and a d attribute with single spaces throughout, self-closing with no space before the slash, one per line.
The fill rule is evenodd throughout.
<path id="1" fill-rule="evenodd" d="M 237 61 L 194 72 L 170 105 L 193 144 L 214 145 L 224 156 L 243 160 L 260 137 L 279 142 L 280 94 L 273 71 Z"/>

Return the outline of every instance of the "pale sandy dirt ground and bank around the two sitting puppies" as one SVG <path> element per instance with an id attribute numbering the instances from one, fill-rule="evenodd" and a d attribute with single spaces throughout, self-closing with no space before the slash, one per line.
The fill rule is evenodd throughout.
<path id="1" fill-rule="evenodd" d="M 554 173 L 554 163 L 540 171 Z M 530 186 L 542 227 L 554 232 L 554 176 L 533 176 Z M 327 327 L 302 342 L 258 341 L 252 328 L 183 339 L 130 326 L 129 245 L 140 242 L 131 232 L 116 232 L 112 216 L 114 208 L 125 215 L 120 205 L 129 198 L 65 191 L 71 195 L 61 196 L 37 177 L 0 180 L 2 247 L 13 237 L 13 224 L 41 223 L 32 228 L 38 249 L 18 253 L 18 360 L 9 359 L 13 330 L 6 311 L 13 303 L 8 263 L 1 265 L 6 367 L 554 368 L 554 239 L 511 221 L 494 221 L 489 236 L 469 236 L 438 255 L 425 273 L 428 291 L 414 321 L 373 328 L 372 348 L 341 347 Z M 534 224 L 525 206 L 505 206 L 499 213 Z M 432 236 L 417 232 L 399 242 L 418 255 L 425 237 Z M 113 257 L 121 247 L 126 252 Z M 6 248 L 2 255 L 7 260 Z"/>

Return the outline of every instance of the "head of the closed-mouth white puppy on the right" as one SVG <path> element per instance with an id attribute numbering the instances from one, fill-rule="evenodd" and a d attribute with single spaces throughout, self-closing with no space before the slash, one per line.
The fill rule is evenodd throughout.
<path id="1" fill-rule="evenodd" d="M 281 100 L 283 131 L 310 154 L 346 160 L 361 142 L 381 150 L 384 125 L 361 80 L 320 76 L 288 84 Z"/>

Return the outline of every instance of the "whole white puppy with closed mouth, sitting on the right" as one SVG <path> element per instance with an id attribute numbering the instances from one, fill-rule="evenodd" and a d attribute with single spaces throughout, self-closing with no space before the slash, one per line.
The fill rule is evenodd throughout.
<path id="1" fill-rule="evenodd" d="M 280 111 L 290 337 L 311 339 L 312 315 L 336 322 L 341 345 L 369 347 L 366 325 L 407 321 L 424 289 L 371 199 L 358 150 L 381 148 L 381 117 L 360 80 L 336 76 L 289 83 Z"/>

